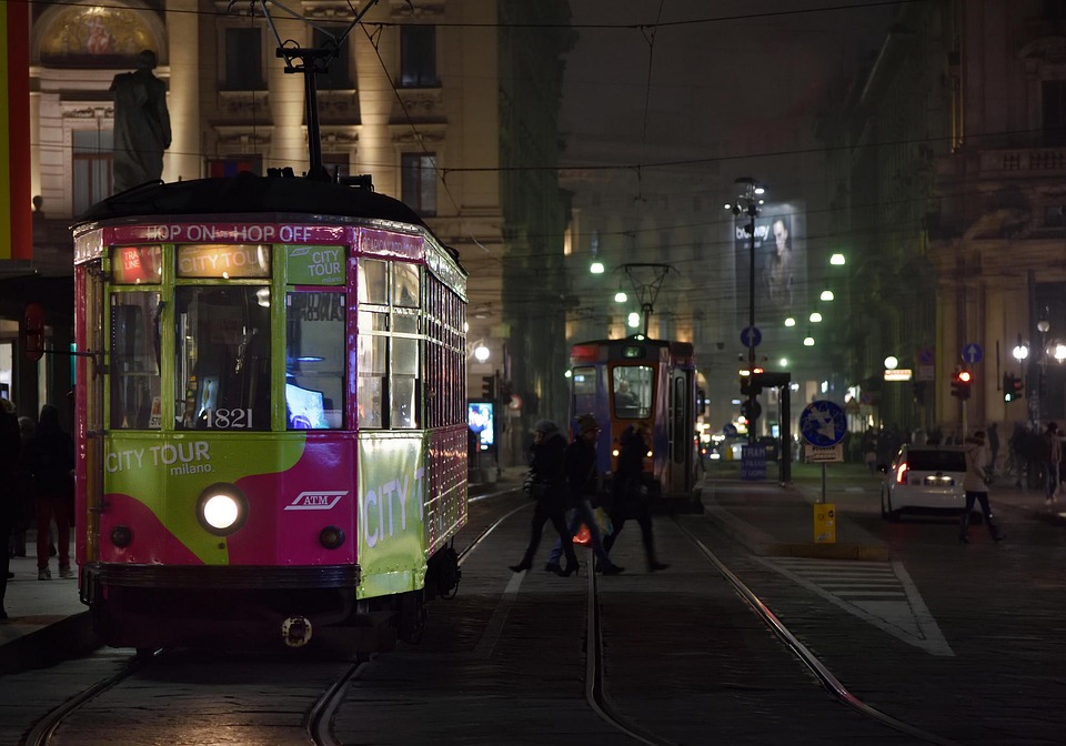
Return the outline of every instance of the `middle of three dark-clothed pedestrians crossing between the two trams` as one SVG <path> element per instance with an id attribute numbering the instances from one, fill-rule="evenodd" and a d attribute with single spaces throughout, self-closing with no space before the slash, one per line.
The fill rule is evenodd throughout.
<path id="1" fill-rule="evenodd" d="M 600 437 L 600 423 L 593 414 L 582 414 L 577 417 L 577 437 L 566 446 L 563 463 L 566 472 L 566 484 L 570 487 L 571 507 L 573 512 L 567 523 L 567 533 L 571 537 L 577 533 L 581 524 L 589 528 L 592 552 L 600 562 L 600 571 L 604 575 L 617 575 L 624 567 L 619 567 L 611 561 L 600 533 L 600 522 L 596 521 L 595 500 L 599 492 L 596 480 L 596 440 Z M 560 540 L 552 548 L 547 558 L 547 571 L 559 565 L 560 552 L 567 542 Z M 573 543 L 573 538 L 570 540 Z"/>

